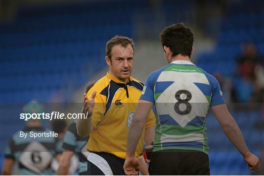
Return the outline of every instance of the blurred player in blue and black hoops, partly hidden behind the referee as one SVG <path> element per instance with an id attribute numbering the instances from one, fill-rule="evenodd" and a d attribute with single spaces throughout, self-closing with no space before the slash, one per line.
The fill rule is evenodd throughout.
<path id="1" fill-rule="evenodd" d="M 86 93 L 95 82 L 90 82 L 86 87 Z M 83 112 L 84 113 L 84 112 Z M 87 156 L 86 144 L 89 137 L 81 137 L 77 134 L 76 123 L 69 125 L 63 140 L 62 148 L 64 149 L 57 175 L 67 175 L 71 165 L 71 158 L 77 152 L 79 156 L 79 175 L 87 175 Z M 73 174 L 73 173 L 69 173 Z"/>

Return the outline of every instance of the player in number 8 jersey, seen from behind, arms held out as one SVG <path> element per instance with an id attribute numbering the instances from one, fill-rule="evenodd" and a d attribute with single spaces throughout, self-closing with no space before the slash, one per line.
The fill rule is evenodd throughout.
<path id="1" fill-rule="evenodd" d="M 152 72 L 146 81 L 129 132 L 126 174 L 136 174 L 134 156 L 147 114 L 155 105 L 156 130 L 150 175 L 209 175 L 206 115 L 214 112 L 228 139 L 243 155 L 249 169 L 259 167 L 242 133 L 227 110 L 218 81 L 191 61 L 194 36 L 182 23 L 160 34 L 169 65 Z"/>

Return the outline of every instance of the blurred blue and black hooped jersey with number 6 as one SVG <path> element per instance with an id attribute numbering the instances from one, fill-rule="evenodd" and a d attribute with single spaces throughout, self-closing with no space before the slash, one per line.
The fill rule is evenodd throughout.
<path id="1" fill-rule="evenodd" d="M 30 132 L 50 132 L 42 127 L 26 127 L 22 132 L 28 133 L 27 137 L 16 132 L 5 149 L 5 158 L 18 161 L 19 175 L 54 175 L 50 165 L 56 154 L 56 137 L 29 136 Z"/>

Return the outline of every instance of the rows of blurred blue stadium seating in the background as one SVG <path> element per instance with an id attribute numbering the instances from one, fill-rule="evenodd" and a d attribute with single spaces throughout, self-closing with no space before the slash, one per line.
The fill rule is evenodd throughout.
<path id="1" fill-rule="evenodd" d="M 264 9 L 249 13 L 247 9 L 259 7 L 243 1 L 230 5 L 221 22 L 215 50 L 198 57 L 197 65 L 209 73 L 218 71 L 233 76 L 242 42 L 256 42 L 259 52 L 264 54 Z M 258 2 L 261 7 L 263 1 Z M 187 21 L 193 8 L 191 0 L 166 0 L 161 2 L 160 10 L 164 13 L 164 23 L 168 24 Z M 179 16 L 175 10 L 180 12 Z M 132 16 L 141 11 L 145 12 L 144 22 L 155 23 L 151 20 L 154 12 L 148 1 L 121 0 L 70 7 L 22 8 L 15 22 L 0 24 L 0 151 L 9 140 L 3 132 L 13 134 L 24 125 L 17 122 L 23 104 L 16 104 L 16 112 L 10 113 L 13 109 L 3 103 L 26 103 L 33 98 L 49 102 L 57 91 L 71 91 L 68 87 L 76 89 L 88 82 L 106 66 L 106 42 L 116 34 L 133 37 Z M 237 81 L 234 79 L 234 83 Z M 264 132 L 254 129 L 260 120 L 259 112 L 232 114 L 250 150 L 259 152 L 259 143 L 264 143 Z M 8 123 L 12 123 L 12 129 L 5 125 Z M 251 174 L 212 113 L 207 116 L 206 127 L 211 175 Z M 0 152 L 0 166 L 2 156 Z"/>

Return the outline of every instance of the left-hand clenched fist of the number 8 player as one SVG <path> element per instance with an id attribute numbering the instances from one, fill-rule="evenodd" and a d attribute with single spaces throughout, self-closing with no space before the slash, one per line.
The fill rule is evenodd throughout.
<path id="1" fill-rule="evenodd" d="M 126 157 L 123 168 L 126 175 L 138 175 L 139 163 L 137 158 L 135 156 Z"/>

